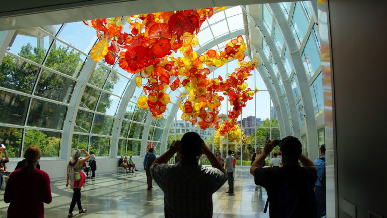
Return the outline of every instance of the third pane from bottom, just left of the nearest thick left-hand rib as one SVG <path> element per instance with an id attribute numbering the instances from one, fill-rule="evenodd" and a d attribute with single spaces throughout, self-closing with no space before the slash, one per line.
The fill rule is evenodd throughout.
<path id="1" fill-rule="evenodd" d="M 34 95 L 68 103 L 74 86 L 74 80 L 43 70 Z"/>

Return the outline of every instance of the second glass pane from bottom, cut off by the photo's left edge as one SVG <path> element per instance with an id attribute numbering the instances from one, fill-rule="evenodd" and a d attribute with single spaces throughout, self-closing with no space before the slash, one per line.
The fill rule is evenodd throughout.
<path id="1" fill-rule="evenodd" d="M 24 125 L 30 98 L 0 91 L 0 119 L 2 123 Z"/>

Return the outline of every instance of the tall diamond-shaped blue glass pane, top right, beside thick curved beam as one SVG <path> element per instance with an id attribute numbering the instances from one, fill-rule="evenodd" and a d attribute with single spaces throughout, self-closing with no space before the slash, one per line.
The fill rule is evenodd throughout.
<path id="1" fill-rule="evenodd" d="M 306 20 L 305 14 L 302 11 L 301 4 L 296 2 L 296 6 L 293 13 L 292 22 L 290 28 L 292 29 L 294 38 L 298 39 L 298 47 L 301 46 L 304 39 L 306 30 L 308 29 L 309 22 Z"/>

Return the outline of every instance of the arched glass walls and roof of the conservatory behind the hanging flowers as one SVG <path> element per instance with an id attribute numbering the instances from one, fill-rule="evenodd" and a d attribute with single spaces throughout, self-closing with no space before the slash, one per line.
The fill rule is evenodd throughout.
<path id="1" fill-rule="evenodd" d="M 228 7 L 215 12 L 197 34 L 198 53 L 220 51 L 242 35 L 248 45 L 245 60 L 260 59 L 247 80 L 248 87 L 260 91 L 238 118 L 250 147 L 261 145 L 255 129 L 268 129 L 270 138 L 293 134 L 317 141 L 323 103 L 315 10 L 309 1 Z M 30 144 L 44 148 L 43 157 L 69 157 L 69 146 L 113 158 L 144 155 L 147 146 L 155 146 L 159 155 L 186 131 L 199 132 L 214 152 L 222 152 L 213 144 L 213 128 L 199 130 L 181 120 L 177 97 L 184 88 L 167 91 L 172 104 L 161 119 L 138 108 L 137 99 L 144 93 L 136 87 L 134 74 L 117 63 L 90 59 L 97 37 L 82 21 L 8 32 L 14 37 L 4 42 L 9 47 L 1 56 L 0 140 L 10 157 L 21 157 Z M 230 60 L 210 70 L 213 78 L 224 78 L 237 67 Z M 220 114 L 227 114 L 231 106 L 223 102 Z M 305 154 L 307 148 L 304 143 Z M 250 153 L 240 149 L 241 165 Z"/>

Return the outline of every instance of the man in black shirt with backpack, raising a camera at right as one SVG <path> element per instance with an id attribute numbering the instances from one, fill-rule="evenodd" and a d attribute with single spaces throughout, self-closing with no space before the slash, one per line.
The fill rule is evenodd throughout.
<path id="1" fill-rule="evenodd" d="M 266 156 L 275 146 L 275 140 L 266 141 L 263 152 L 250 168 L 255 184 L 263 186 L 268 193 L 270 218 L 316 217 L 313 192 L 313 185 L 317 180 L 316 166 L 301 154 L 300 141 L 287 136 L 279 143 L 284 167 L 262 168 Z M 298 165 L 298 160 L 303 167 Z"/>

